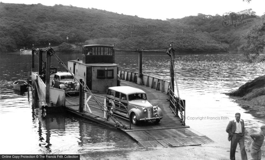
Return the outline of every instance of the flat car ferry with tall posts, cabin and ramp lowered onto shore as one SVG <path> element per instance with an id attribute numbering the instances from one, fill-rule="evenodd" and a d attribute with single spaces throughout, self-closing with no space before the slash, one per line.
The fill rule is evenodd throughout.
<path id="1" fill-rule="evenodd" d="M 51 65 L 51 56 L 53 56 L 71 75 L 75 75 L 80 85 L 78 97 L 67 96 L 65 90 L 51 87 L 50 74 L 46 74 L 46 83 L 44 83 L 36 72 L 31 72 L 35 100 L 39 98 L 41 108 L 46 109 L 47 113 L 60 112 L 60 109 L 64 109 L 96 123 L 117 128 L 146 149 L 213 143 L 210 138 L 191 130 L 185 124 L 185 100 L 174 93 L 175 67 L 172 47 L 163 50 L 171 59 L 169 82 L 142 74 L 144 50 L 134 50 L 138 52 L 138 73 L 118 70 L 113 46 L 84 45 L 82 50 L 82 60 L 70 60 L 67 66 L 51 47 L 45 50 L 46 66 Z M 33 48 L 32 69 L 34 69 L 35 54 L 39 56 L 39 62 L 42 62 L 42 51 Z M 42 64 L 38 66 L 40 72 Z M 50 69 L 46 67 L 46 73 L 50 73 Z M 132 93 L 133 95 L 125 93 L 124 90 L 117 88 L 119 85 L 125 91 L 132 91 L 132 88 L 135 88 L 135 92 Z M 127 86 L 130 86 L 130 89 Z M 131 96 L 137 100 L 131 99 Z M 145 105 L 138 106 L 140 101 Z M 130 112 L 128 109 L 134 109 L 135 112 Z M 127 111 L 128 116 L 124 111 Z M 139 116 L 140 111 L 145 113 L 144 117 Z M 138 123 L 140 121 L 147 123 Z"/>

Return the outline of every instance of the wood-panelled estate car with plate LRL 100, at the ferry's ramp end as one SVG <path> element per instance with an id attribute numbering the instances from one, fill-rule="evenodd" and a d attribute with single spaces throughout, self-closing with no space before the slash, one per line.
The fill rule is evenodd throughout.
<path id="1" fill-rule="evenodd" d="M 130 86 L 110 87 L 106 97 L 109 112 L 131 119 L 134 125 L 141 121 L 158 123 L 163 118 L 162 110 L 147 101 L 143 90 Z"/>

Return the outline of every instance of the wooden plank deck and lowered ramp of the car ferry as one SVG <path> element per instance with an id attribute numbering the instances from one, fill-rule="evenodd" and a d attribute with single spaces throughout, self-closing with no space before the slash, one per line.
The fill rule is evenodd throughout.
<path id="1" fill-rule="evenodd" d="M 116 123 L 109 119 L 108 121 L 104 118 L 104 111 L 99 108 L 96 102 L 89 103 L 91 112 L 88 109 L 86 111 L 79 113 L 79 98 L 78 96 L 66 96 L 65 98 L 65 108 L 66 110 L 82 116 L 86 119 L 92 120 L 99 124 L 118 128 L 119 130 L 127 133 L 132 139 L 137 141 L 140 145 L 146 149 L 155 147 L 181 147 L 188 145 L 201 145 L 214 143 L 210 138 L 190 129 L 189 126 L 183 126 L 181 119 L 173 114 L 171 108 L 169 107 L 169 102 L 167 100 L 168 96 L 161 91 L 151 89 L 144 85 L 137 85 L 136 83 L 121 81 L 121 86 L 132 86 L 144 90 L 147 93 L 147 99 L 153 106 L 158 106 L 163 111 L 163 119 L 158 124 L 140 124 L 133 125 L 129 120 L 117 118 L 122 124 L 126 126 L 123 128 L 117 126 Z M 106 94 L 99 94 L 105 97 Z M 100 99 L 99 99 L 100 100 Z M 85 103 L 85 102 L 84 102 Z"/>

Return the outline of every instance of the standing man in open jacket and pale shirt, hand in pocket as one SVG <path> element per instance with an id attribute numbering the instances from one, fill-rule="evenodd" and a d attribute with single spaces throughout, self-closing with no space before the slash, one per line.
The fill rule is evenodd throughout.
<path id="1" fill-rule="evenodd" d="M 228 140 L 231 140 L 230 159 L 235 160 L 237 143 L 239 143 L 241 159 L 247 160 L 248 158 L 244 143 L 245 125 L 243 119 L 240 119 L 240 113 L 236 113 L 235 119 L 229 121 L 229 124 L 226 127 L 226 132 L 228 133 Z"/>

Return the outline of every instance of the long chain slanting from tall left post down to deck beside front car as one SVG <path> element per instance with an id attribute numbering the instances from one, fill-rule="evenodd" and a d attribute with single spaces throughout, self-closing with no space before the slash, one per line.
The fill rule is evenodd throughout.
<path id="1" fill-rule="evenodd" d="M 51 48 L 51 47 L 49 47 L 49 48 L 47 48 L 46 49 L 46 51 L 47 52 L 49 52 L 50 54 L 51 54 L 51 56 L 54 56 L 55 57 L 55 59 L 72 75 L 72 76 L 74 76 L 75 77 L 75 75 L 67 68 L 67 66 L 64 64 L 64 62 L 55 54 L 55 51 Z M 104 106 L 103 106 L 103 104 L 101 104 L 100 102 L 99 102 L 99 100 L 93 95 L 93 93 L 89 90 L 89 88 L 88 88 L 88 86 L 86 85 L 86 84 L 82 84 L 82 83 L 80 83 L 80 81 L 78 80 L 78 79 L 76 79 L 78 82 L 79 82 L 79 84 L 80 85 L 82 85 L 83 86 L 83 88 L 84 88 L 84 90 L 86 90 L 88 93 L 89 93 L 89 95 L 91 95 L 91 97 L 92 98 L 94 98 L 95 99 L 95 101 L 97 102 L 97 104 L 99 105 L 99 107 L 100 107 L 100 109 L 102 109 L 102 110 L 104 110 L 103 108 L 104 108 Z M 110 115 L 110 118 L 113 120 L 113 122 L 115 122 L 115 124 L 116 125 L 118 125 L 118 126 L 120 126 L 115 120 L 114 120 L 114 118 L 115 117 L 113 117 L 110 113 L 109 113 L 109 111 L 108 111 L 108 109 L 106 109 L 106 110 L 104 110 L 104 112 L 106 112 L 107 114 L 109 114 Z M 122 126 L 123 126 L 123 128 L 127 128 L 124 124 L 122 124 L 122 122 L 120 122 L 117 118 L 115 118 Z"/>

